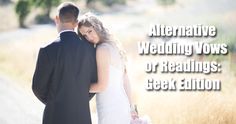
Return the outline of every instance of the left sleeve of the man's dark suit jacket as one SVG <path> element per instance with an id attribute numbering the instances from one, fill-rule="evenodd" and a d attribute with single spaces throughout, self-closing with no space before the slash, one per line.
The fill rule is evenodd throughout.
<path id="1" fill-rule="evenodd" d="M 32 90 L 35 96 L 44 104 L 47 103 L 50 77 L 52 74 L 52 64 L 45 48 L 41 48 L 38 54 L 37 65 L 33 76 Z"/>

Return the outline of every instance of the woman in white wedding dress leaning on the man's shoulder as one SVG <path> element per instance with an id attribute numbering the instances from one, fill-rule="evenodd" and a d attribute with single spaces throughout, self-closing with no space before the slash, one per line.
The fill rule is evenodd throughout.
<path id="1" fill-rule="evenodd" d="M 135 118 L 137 114 L 131 111 L 124 52 L 102 22 L 91 13 L 79 19 L 78 34 L 96 44 L 98 81 L 91 85 L 90 92 L 97 93 L 98 124 L 130 124 L 131 117 Z"/>

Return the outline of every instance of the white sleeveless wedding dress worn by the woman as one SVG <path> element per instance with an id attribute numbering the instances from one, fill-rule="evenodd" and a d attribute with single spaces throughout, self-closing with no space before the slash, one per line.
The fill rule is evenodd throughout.
<path id="1" fill-rule="evenodd" d="M 97 93 L 98 124 L 130 124 L 130 105 L 124 89 L 124 64 L 117 49 L 108 43 L 110 51 L 109 82 L 105 91 Z"/>

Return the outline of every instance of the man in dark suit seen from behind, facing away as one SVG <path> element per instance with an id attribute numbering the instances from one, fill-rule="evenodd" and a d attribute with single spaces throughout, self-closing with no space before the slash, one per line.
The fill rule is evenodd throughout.
<path id="1" fill-rule="evenodd" d="M 45 104 L 43 124 L 91 124 L 89 87 L 97 80 L 95 49 L 74 32 L 78 14 L 73 3 L 62 3 L 55 19 L 59 38 L 38 54 L 32 89 Z"/>

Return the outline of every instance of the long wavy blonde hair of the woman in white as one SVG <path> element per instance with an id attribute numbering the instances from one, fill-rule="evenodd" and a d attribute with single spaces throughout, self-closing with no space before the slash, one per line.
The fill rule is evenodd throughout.
<path id="1" fill-rule="evenodd" d="M 125 51 L 122 49 L 121 44 L 117 40 L 114 40 L 112 35 L 109 33 L 108 29 L 104 27 L 103 23 L 98 19 L 97 16 L 89 12 L 89 13 L 85 13 L 79 18 L 77 30 L 78 30 L 78 34 L 81 37 L 82 37 L 82 34 L 80 33 L 79 29 L 82 26 L 85 26 L 85 27 L 92 26 L 94 28 L 94 30 L 96 31 L 96 33 L 98 34 L 100 38 L 100 41 L 97 45 L 101 43 L 108 43 L 114 46 L 115 48 L 117 48 L 124 62 L 127 60 Z"/>

